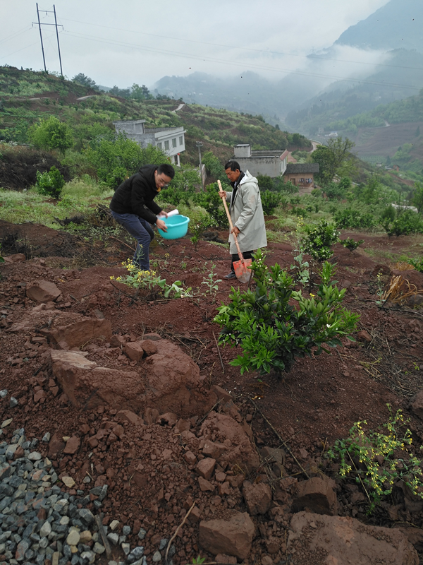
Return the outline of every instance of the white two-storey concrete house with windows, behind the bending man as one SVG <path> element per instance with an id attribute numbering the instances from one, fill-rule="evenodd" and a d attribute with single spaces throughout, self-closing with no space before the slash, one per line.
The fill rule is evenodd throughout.
<path id="1" fill-rule="evenodd" d="M 142 148 L 154 145 L 171 157 L 171 162 L 180 167 L 179 155 L 185 151 L 185 129 L 146 128 L 145 119 L 114 121 L 116 133 L 126 133 L 129 139 L 136 141 Z"/>

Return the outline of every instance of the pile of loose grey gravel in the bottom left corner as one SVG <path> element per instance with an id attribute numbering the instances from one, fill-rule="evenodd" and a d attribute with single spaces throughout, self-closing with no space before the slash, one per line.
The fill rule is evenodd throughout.
<path id="1" fill-rule="evenodd" d="M 1 428 L 9 424 L 11 420 L 5 420 Z M 42 441 L 49 441 L 48 435 Z M 111 559 L 109 565 L 147 565 L 145 548 L 131 548 L 127 542 L 130 526 L 116 533 L 118 519 L 102 524 L 100 509 L 107 484 L 90 489 L 89 494 L 63 492 L 51 461 L 37 451 L 38 445 L 38 439 L 27 441 L 23 428 L 13 432 L 10 443 L 0 443 L 0 565 L 44 565 L 46 560 L 51 565 L 87 565 L 100 556 L 105 562 L 108 554 L 119 559 Z M 93 500 L 99 512 L 95 516 L 86 508 Z M 141 528 L 140 542 L 145 535 Z M 163 563 L 167 545 L 168 540 L 161 540 L 149 562 Z M 174 545 L 169 559 L 173 554 Z"/>

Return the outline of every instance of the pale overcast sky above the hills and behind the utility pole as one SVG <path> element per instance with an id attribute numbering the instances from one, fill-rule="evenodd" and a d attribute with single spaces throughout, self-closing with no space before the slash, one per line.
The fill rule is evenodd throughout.
<path id="1" fill-rule="evenodd" d="M 56 0 L 63 73 L 97 84 L 148 86 L 162 76 L 194 71 L 219 76 L 255 71 L 280 79 L 388 0 Z M 39 2 L 54 24 L 53 4 Z M 44 9 L 44 12 L 42 11 Z M 0 0 L 0 65 L 43 69 L 32 0 Z M 42 25 L 47 69 L 60 71 L 54 25 Z M 350 60 L 364 54 L 349 52 Z M 342 78 L 352 64 L 334 68 Z M 357 64 L 355 65 L 357 68 Z"/>

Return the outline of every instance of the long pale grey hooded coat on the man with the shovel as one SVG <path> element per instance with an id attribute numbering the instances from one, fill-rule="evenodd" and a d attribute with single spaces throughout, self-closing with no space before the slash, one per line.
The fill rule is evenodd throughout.
<path id="1" fill-rule="evenodd" d="M 238 184 L 234 201 L 232 201 L 232 195 L 233 192 L 227 192 L 226 201 L 231 202 L 232 223 L 240 230 L 238 243 L 241 251 L 266 247 L 266 225 L 257 179 L 246 171 Z M 229 234 L 229 242 L 231 243 L 230 253 L 238 253 L 233 234 Z"/>

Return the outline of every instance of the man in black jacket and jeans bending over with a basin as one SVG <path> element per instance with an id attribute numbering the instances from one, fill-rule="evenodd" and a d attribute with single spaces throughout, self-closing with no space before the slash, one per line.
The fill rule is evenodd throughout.
<path id="1" fill-rule="evenodd" d="M 154 198 L 161 189 L 168 186 L 175 176 L 171 165 L 145 165 L 118 186 L 111 199 L 111 215 L 138 242 L 134 263 L 142 270 L 149 270 L 149 244 L 154 237 L 150 224 L 156 224 L 167 232 L 166 224 L 157 218 L 162 213 L 167 218 Z"/>

